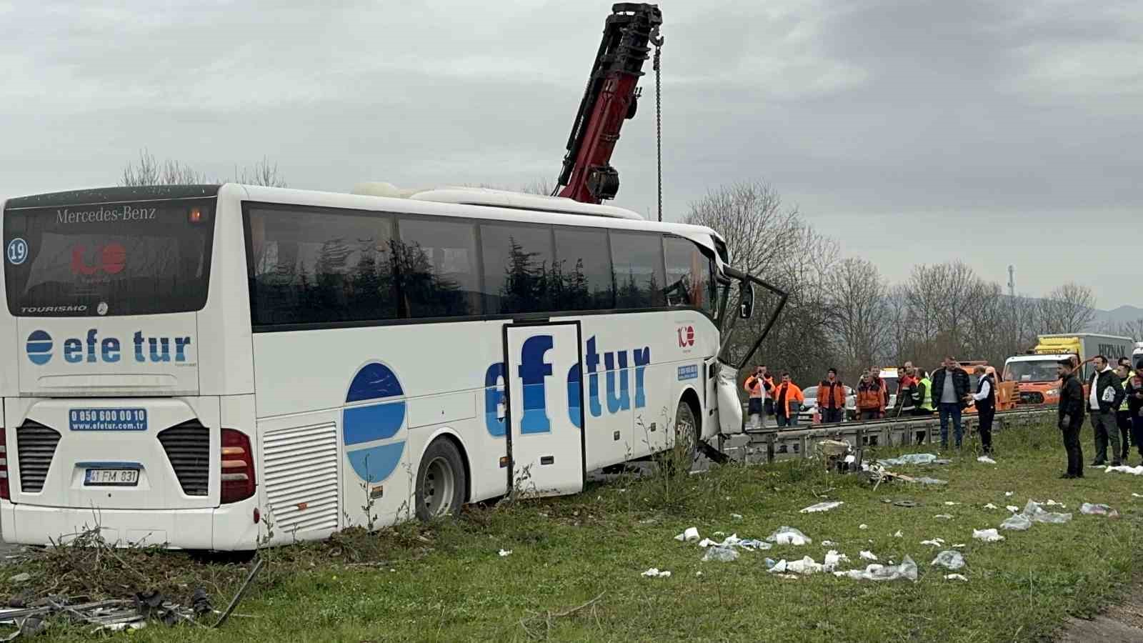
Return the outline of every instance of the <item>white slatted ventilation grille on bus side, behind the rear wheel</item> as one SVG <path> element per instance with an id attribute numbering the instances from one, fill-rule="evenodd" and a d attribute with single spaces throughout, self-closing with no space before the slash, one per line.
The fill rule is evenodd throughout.
<path id="1" fill-rule="evenodd" d="M 336 530 L 337 424 L 309 424 L 263 432 L 266 500 L 277 530 Z"/>

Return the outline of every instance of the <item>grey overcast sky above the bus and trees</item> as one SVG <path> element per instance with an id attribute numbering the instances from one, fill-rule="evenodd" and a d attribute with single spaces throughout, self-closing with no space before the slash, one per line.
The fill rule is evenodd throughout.
<path id="1" fill-rule="evenodd" d="M 610 11 L 95 5 L 0 0 L 0 196 L 113 184 L 144 146 L 219 176 L 266 156 L 320 190 L 551 180 Z M 1031 295 L 1143 302 L 1143 2 L 661 7 L 668 219 L 762 180 L 890 279 L 961 259 L 1000 283 L 1015 264 Z M 647 100 L 613 159 L 616 205 L 645 214 L 654 132 Z"/>

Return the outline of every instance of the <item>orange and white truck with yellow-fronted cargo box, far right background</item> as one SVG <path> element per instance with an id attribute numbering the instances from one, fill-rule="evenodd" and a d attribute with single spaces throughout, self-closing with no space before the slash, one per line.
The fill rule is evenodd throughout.
<path id="1" fill-rule="evenodd" d="M 1015 382 L 1017 404 L 1056 404 L 1060 402 L 1060 378 L 1056 364 L 1071 356 L 1084 365 L 1079 376 L 1084 382 L 1092 378 L 1090 359 L 1096 355 L 1116 364 L 1120 357 L 1132 357 L 1134 340 L 1095 333 L 1040 335 L 1026 355 L 1009 357 L 1004 364 L 1004 379 Z"/>

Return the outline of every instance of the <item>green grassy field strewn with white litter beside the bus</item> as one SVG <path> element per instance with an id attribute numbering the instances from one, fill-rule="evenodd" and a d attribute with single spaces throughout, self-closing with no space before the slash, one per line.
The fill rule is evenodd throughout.
<path id="1" fill-rule="evenodd" d="M 1090 440 L 1086 432 L 1085 445 Z M 327 543 L 264 553 L 263 575 L 222 629 L 151 626 L 133 641 L 1036 641 L 1050 637 L 1068 614 L 1089 614 L 1113 600 L 1143 562 L 1138 477 L 1089 470 L 1061 481 L 1054 428 L 999 436 L 998 465 L 976 453 L 946 453 L 951 465 L 900 467 L 949 481 L 946 486 L 882 484 L 826 475 L 817 463 L 724 466 L 701 475 L 650 476 L 592 485 L 583 494 L 513 506 L 472 508 L 457 521 L 349 533 Z M 885 457 L 896 452 L 882 452 Z M 1089 454 L 1090 455 L 1090 454 Z M 1005 492 L 1013 492 L 1006 497 Z M 822 514 L 799 509 L 828 497 L 845 502 Z M 884 502 L 909 499 L 912 508 Z M 1029 499 L 1066 505 L 1073 519 L 1001 532 L 984 543 L 973 529 L 996 527 L 1006 505 Z M 945 505 L 945 502 L 959 505 Z M 1079 514 L 1105 502 L 1121 517 Z M 984 509 L 993 503 L 997 510 Z M 738 514 L 742 517 L 733 517 Z M 951 514 L 951 519 L 935 518 Z M 858 529 L 866 524 L 868 529 Z M 805 547 L 743 551 L 732 563 L 701 562 L 695 543 L 673 539 L 685 527 L 766 538 L 781 525 L 814 539 Z M 901 531 L 902 538 L 893 534 Z M 713 538 L 713 535 L 712 535 Z M 968 582 L 929 566 L 943 538 L 961 548 Z M 720 538 L 719 538 L 720 539 Z M 817 574 L 766 573 L 764 559 L 822 562 L 828 547 L 864 566 L 868 549 L 882 562 L 906 554 L 918 582 Z M 499 549 L 510 549 L 499 556 Z M 131 551 L 118 561 L 75 561 L 56 553 L 9 567 L 31 585 L 123 594 L 150 582 L 173 595 L 203 585 L 218 609 L 248 564 L 203 564 L 185 555 Z M 362 564 L 365 563 L 365 564 Z M 88 569 L 87 565 L 95 565 Z M 648 567 L 671 578 L 648 579 Z M 78 572 L 69 574 L 69 569 Z M 103 574 L 103 575 L 101 575 Z M 87 629 L 54 624 L 39 640 L 81 641 Z"/>

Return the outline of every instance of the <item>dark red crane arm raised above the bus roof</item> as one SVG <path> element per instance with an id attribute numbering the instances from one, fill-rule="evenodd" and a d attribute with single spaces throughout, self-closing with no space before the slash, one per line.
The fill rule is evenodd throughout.
<path id="1" fill-rule="evenodd" d="M 585 204 L 614 199 L 620 174 L 610 165 L 623 121 L 636 116 L 639 77 L 657 43 L 663 14 L 656 5 L 618 2 L 604 25 L 604 40 L 591 68 L 568 137 L 555 192 Z"/>

